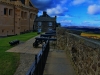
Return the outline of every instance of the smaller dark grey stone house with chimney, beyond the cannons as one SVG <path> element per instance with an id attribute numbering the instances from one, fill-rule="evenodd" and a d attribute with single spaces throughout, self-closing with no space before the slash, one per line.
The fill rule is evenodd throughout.
<path id="1" fill-rule="evenodd" d="M 45 11 L 41 16 L 37 16 L 34 21 L 34 30 L 46 32 L 57 27 L 56 16 L 50 17 Z"/>

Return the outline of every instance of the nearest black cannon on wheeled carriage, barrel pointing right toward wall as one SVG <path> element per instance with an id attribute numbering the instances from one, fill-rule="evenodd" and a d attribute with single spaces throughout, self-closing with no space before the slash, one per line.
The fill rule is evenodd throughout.
<path id="1" fill-rule="evenodd" d="M 47 40 L 56 41 L 57 39 L 56 38 L 47 38 L 47 37 L 36 37 L 35 42 L 33 43 L 33 47 L 37 48 L 38 45 L 46 43 Z"/>

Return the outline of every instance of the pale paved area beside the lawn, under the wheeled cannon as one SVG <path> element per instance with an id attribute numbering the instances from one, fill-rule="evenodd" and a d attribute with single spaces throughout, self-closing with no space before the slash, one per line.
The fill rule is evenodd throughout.
<path id="1" fill-rule="evenodd" d="M 39 36 L 36 36 L 39 37 Z M 33 47 L 33 42 L 35 41 L 35 37 L 30 40 L 20 43 L 19 45 L 7 50 L 7 52 L 17 52 L 17 53 L 28 53 L 28 54 L 37 54 L 41 50 L 41 45 L 38 48 Z"/>

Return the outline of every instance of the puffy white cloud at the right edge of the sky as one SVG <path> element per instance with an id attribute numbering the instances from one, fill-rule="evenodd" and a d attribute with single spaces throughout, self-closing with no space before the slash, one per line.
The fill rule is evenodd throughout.
<path id="1" fill-rule="evenodd" d="M 96 5 L 96 4 L 90 5 L 88 7 L 88 14 L 91 14 L 91 15 L 100 14 L 100 5 Z"/>

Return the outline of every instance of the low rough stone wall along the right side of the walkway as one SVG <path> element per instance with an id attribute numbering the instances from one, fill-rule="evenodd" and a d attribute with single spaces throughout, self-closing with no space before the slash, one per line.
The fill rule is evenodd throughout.
<path id="1" fill-rule="evenodd" d="M 57 28 L 57 46 L 66 50 L 78 75 L 100 75 L 100 43 Z"/>

